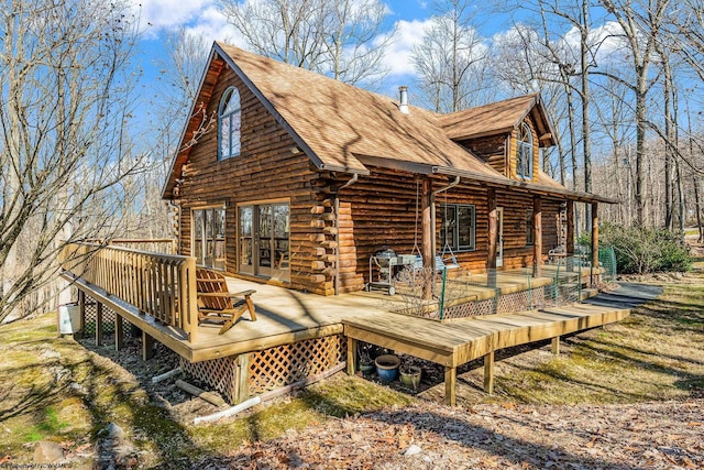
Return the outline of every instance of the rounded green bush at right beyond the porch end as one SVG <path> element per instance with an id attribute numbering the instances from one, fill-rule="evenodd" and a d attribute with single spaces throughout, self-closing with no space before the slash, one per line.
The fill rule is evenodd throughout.
<path id="1" fill-rule="evenodd" d="M 684 272 L 692 267 L 692 259 L 681 243 L 681 233 L 661 228 L 604 223 L 600 234 L 603 245 L 614 247 L 619 273 Z"/>

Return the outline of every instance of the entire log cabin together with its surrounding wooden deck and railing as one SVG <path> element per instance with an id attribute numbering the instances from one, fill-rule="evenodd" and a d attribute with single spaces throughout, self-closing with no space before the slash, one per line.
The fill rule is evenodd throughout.
<path id="1" fill-rule="evenodd" d="M 449 404 L 457 368 L 483 357 L 491 393 L 495 350 L 552 339 L 559 351 L 560 336 L 628 315 L 531 299 L 546 297 L 553 275 L 582 285 L 581 266 L 536 277 L 551 249 L 573 252 L 575 203 L 592 206 L 594 248 L 598 204 L 612 203 L 542 173 L 540 151 L 553 144 L 539 95 L 440 116 L 410 106 L 403 87 L 395 100 L 215 43 L 163 193 L 178 208 L 179 254 L 67 247 L 62 275 L 78 289 L 79 330 L 92 325 L 100 343 L 112 319 L 120 349 L 136 326 L 145 360 L 154 341 L 165 345 L 230 403 L 345 361 L 354 373 L 358 341 L 443 365 Z M 444 316 L 443 306 L 439 317 L 399 314 L 385 302 L 403 296 L 356 293 L 385 247 L 431 273 L 449 252 L 471 277 L 496 275 Z M 201 325 L 197 265 L 235 277 L 238 289 L 260 283 L 258 319 L 222 335 Z M 535 277 L 516 283 L 520 266 Z"/>

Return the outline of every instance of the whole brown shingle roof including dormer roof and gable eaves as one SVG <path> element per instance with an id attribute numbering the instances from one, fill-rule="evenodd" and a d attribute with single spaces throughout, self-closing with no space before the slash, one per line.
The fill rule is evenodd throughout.
<path id="1" fill-rule="evenodd" d="M 258 97 L 300 149 L 320 170 L 367 174 L 364 163 L 404 165 L 418 173 L 463 174 L 492 184 L 514 185 L 490 165 L 474 156 L 452 138 L 465 138 L 482 132 L 510 130 L 528 113 L 537 112 L 539 132 L 551 142 L 550 123 L 538 95 L 513 98 L 493 105 L 452 114 L 436 114 L 410 106 L 409 113 L 399 110 L 397 100 L 363 90 L 323 75 L 294 67 L 228 44 L 216 42 L 194 103 L 210 99 L 223 62 Z M 173 190 L 186 163 L 199 117 L 191 110 L 180 151 L 174 157 L 164 187 L 164 197 Z M 607 200 L 594 195 L 565 189 L 544 173 L 537 184 L 521 182 L 520 186 L 537 192 L 572 196 L 580 200 Z"/>

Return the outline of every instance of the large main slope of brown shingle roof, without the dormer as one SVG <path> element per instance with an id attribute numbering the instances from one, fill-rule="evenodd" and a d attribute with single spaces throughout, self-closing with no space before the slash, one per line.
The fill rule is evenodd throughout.
<path id="1" fill-rule="evenodd" d="M 449 140 L 437 114 L 302 68 L 217 43 L 322 163 L 323 168 L 366 173 L 369 155 L 425 165 L 454 166 L 496 176 Z M 227 59 L 227 57 L 226 57 Z"/>

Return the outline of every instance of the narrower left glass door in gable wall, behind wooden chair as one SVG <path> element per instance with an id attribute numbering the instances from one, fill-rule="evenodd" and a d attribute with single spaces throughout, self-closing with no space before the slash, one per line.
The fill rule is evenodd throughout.
<path id="1" fill-rule="evenodd" d="M 196 209 L 193 223 L 196 263 L 224 270 L 224 208 Z"/>

